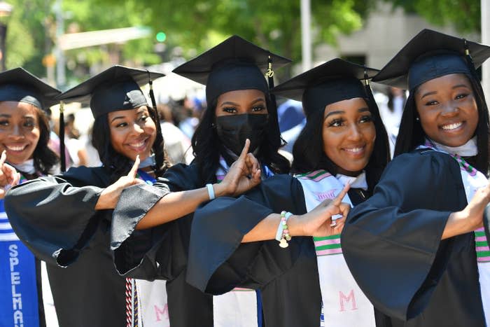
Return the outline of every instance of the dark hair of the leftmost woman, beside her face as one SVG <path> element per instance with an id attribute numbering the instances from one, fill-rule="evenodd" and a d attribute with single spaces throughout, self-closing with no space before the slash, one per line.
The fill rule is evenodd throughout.
<path id="1" fill-rule="evenodd" d="M 36 108 L 39 122 L 39 141 L 32 154 L 32 157 L 34 158 L 34 168 L 36 168 L 37 172 L 41 172 L 45 175 L 52 174 L 52 167 L 57 165 L 59 158 L 57 154 L 48 147 L 50 140 L 48 116 L 46 116 L 41 109 L 38 109 L 36 106 L 34 107 Z"/>

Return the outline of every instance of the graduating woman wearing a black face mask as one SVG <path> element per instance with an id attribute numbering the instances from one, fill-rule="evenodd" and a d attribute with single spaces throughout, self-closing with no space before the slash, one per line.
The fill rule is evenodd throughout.
<path id="1" fill-rule="evenodd" d="M 161 183 L 155 184 L 157 188 L 168 186 L 176 192 L 220 181 L 246 139 L 250 139 L 250 152 L 260 162 L 262 179 L 289 172 L 288 160 L 278 153 L 281 138 L 276 108 L 262 73 L 271 68 L 271 62 L 281 67 L 289 60 L 232 36 L 174 70 L 207 85 L 208 107 L 192 139 L 194 162 L 169 169 Z M 186 283 L 193 214 L 158 226 L 166 223 L 158 190 L 141 186 L 130 189 L 141 189 L 141 194 L 125 190 L 114 212 L 112 246 L 118 271 L 140 279 L 167 280 L 172 327 L 242 326 L 251 321 L 260 324 L 260 296 L 255 291 L 236 291 L 226 298 L 213 299 Z M 210 187 L 209 192 L 213 198 L 216 190 Z M 231 312 L 230 303 L 234 307 Z"/>

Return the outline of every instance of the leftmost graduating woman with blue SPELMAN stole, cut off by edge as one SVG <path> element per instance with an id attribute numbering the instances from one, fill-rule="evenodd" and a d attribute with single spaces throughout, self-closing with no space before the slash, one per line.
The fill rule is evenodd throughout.
<path id="1" fill-rule="evenodd" d="M 57 103 L 59 93 L 25 69 L 0 73 L 0 326 L 46 326 L 43 293 L 49 290 L 43 292 L 43 287 L 49 284 L 41 282 L 41 261 L 10 227 L 3 196 L 19 180 L 24 183 L 57 169 L 57 155 L 48 148 L 45 110 Z M 59 289 L 59 284 L 52 281 L 51 287 Z"/>

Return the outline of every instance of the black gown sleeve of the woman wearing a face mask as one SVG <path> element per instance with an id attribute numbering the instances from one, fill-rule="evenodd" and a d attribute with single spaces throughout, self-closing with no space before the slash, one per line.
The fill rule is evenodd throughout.
<path id="1" fill-rule="evenodd" d="M 169 280 L 181 272 L 187 258 L 182 246 L 188 242 L 185 226 L 189 225 L 187 229 L 190 229 L 192 217 L 184 216 L 146 230 L 135 228 L 169 192 L 193 190 L 202 187 L 200 183 L 195 165 L 179 164 L 167 170 L 153 186 L 141 184 L 123 190 L 111 225 L 111 249 L 120 274 L 146 280 Z"/>

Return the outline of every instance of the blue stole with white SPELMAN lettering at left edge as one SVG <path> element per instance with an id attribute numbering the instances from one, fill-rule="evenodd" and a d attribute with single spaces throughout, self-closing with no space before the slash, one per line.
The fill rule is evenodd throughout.
<path id="1" fill-rule="evenodd" d="M 39 326 L 43 302 L 38 298 L 36 273 L 36 258 L 10 227 L 1 199 L 0 326 Z"/>

